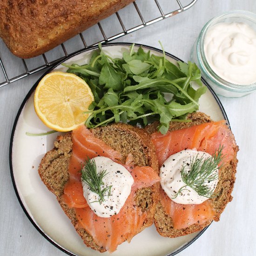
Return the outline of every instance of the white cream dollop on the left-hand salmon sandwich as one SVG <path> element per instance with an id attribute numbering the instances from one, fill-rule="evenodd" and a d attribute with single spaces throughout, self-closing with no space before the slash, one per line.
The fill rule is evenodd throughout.
<path id="1" fill-rule="evenodd" d="M 105 201 L 99 201 L 100 197 L 98 194 L 92 192 L 90 187 L 83 181 L 83 195 L 88 202 L 89 207 L 99 217 L 111 217 L 112 215 L 118 214 L 123 207 L 126 199 L 131 193 L 131 188 L 134 183 L 134 179 L 129 171 L 124 168 L 121 164 L 116 163 L 104 156 L 97 156 L 93 158 L 96 163 L 97 173 L 107 170 L 107 175 L 103 177 L 101 189 L 108 186 L 111 187 L 111 194 L 105 195 Z"/>

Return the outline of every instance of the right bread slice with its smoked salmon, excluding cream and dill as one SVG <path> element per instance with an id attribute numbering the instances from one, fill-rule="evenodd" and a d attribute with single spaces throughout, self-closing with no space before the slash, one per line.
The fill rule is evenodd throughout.
<path id="1" fill-rule="evenodd" d="M 155 226 L 162 236 L 183 236 L 203 229 L 213 220 L 218 221 L 223 209 L 232 200 L 231 192 L 235 182 L 238 151 L 234 135 L 226 125 L 226 121 L 214 122 L 209 116 L 200 112 L 190 114 L 188 119 L 192 121 L 171 122 L 165 135 L 157 132 L 157 123 L 146 128 L 155 145 L 159 167 L 170 155 L 182 150 L 193 149 L 214 155 L 220 145 L 223 146 L 222 166 L 218 171 L 215 196 L 201 204 L 174 202 L 160 186 Z"/>

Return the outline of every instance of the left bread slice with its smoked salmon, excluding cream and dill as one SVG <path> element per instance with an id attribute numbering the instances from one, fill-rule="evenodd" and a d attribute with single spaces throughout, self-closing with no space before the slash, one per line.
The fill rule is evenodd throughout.
<path id="1" fill-rule="evenodd" d="M 154 145 L 144 130 L 121 123 L 93 130 L 81 126 L 54 145 L 38 171 L 88 247 L 113 252 L 152 225 L 160 178 Z M 120 163 L 134 180 L 123 207 L 110 217 L 97 216 L 83 195 L 81 167 L 97 156 Z"/>

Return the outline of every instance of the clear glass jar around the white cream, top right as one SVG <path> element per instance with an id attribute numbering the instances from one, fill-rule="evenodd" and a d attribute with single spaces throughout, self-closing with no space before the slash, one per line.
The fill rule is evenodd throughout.
<path id="1" fill-rule="evenodd" d="M 216 94 L 225 97 L 241 97 L 256 90 L 256 82 L 248 85 L 230 83 L 218 76 L 206 60 L 204 53 L 204 38 L 215 24 L 220 22 L 243 22 L 256 31 L 256 14 L 247 11 L 234 10 L 209 20 L 202 28 L 191 51 L 191 60 L 201 69 L 202 77 L 214 89 Z M 256 71 L 255 71 L 256 72 Z"/>

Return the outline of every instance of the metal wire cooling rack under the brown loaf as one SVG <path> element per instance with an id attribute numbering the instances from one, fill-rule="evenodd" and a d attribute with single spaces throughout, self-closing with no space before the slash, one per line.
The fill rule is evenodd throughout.
<path id="1" fill-rule="evenodd" d="M 51 67 L 81 49 L 107 43 L 192 7 L 197 0 L 136 0 L 112 16 L 67 40 L 53 50 L 31 59 L 20 59 L 0 40 L 0 87 Z M 133 17 L 133 19 L 131 19 Z"/>

